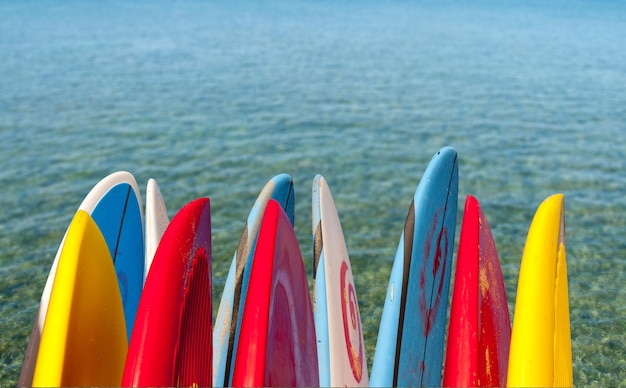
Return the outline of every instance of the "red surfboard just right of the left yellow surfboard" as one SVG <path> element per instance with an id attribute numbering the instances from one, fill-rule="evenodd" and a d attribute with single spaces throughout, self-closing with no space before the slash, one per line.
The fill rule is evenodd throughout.
<path id="1" fill-rule="evenodd" d="M 200 198 L 178 211 L 161 238 L 122 385 L 210 386 L 211 315 L 211 214 L 209 199 Z"/>

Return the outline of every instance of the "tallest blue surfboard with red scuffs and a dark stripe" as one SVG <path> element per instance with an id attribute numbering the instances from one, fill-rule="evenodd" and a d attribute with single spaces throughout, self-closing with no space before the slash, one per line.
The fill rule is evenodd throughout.
<path id="1" fill-rule="evenodd" d="M 454 248 L 457 153 L 439 150 L 417 186 L 391 269 L 371 386 L 439 386 Z"/>

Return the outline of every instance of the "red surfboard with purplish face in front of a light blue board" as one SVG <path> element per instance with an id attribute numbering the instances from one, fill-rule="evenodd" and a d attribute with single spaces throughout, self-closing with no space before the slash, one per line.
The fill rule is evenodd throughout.
<path id="1" fill-rule="evenodd" d="M 233 386 L 319 386 L 315 323 L 291 220 L 270 199 L 262 218 Z"/>

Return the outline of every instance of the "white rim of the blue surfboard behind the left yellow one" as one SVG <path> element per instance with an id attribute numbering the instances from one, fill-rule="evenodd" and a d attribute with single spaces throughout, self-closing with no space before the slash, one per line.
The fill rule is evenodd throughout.
<path id="1" fill-rule="evenodd" d="M 87 194 L 85 199 L 78 207 L 78 210 L 84 210 L 88 214 L 93 215 L 94 211 L 98 207 L 98 204 L 100 203 L 100 200 L 113 187 L 120 184 L 127 184 L 132 188 L 134 196 L 136 197 L 139 205 L 141 223 L 143 224 L 143 210 L 141 206 L 141 195 L 139 193 L 139 187 L 137 186 L 137 181 L 135 180 L 133 175 L 126 171 L 115 172 L 98 182 Z M 46 285 L 44 286 L 43 292 L 41 294 L 39 308 L 37 310 L 37 315 L 35 316 L 35 322 L 33 324 L 28 347 L 26 348 L 26 355 L 22 364 L 22 371 L 18 380 L 18 386 L 20 387 L 32 385 L 35 363 L 37 362 L 37 354 L 39 352 L 39 343 L 46 320 L 46 314 L 48 312 L 48 305 L 50 303 L 50 294 L 52 293 L 52 286 L 54 284 L 54 278 L 56 276 L 56 270 L 59 264 L 59 258 L 64 243 L 65 235 L 61 240 L 61 244 L 59 244 L 59 249 L 57 250 L 56 256 L 52 263 L 52 267 L 50 268 L 50 272 L 48 274 L 48 279 L 46 280 Z"/>

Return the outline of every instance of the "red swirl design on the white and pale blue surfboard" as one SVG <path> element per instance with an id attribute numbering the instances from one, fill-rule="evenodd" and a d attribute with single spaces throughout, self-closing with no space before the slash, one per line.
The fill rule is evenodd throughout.
<path id="1" fill-rule="evenodd" d="M 346 339 L 346 350 L 352 375 L 357 382 L 363 377 L 363 336 L 361 335 L 361 317 L 356 299 L 353 282 L 346 282 L 348 264 L 341 263 L 341 313 L 343 318 L 343 333 Z M 348 316 L 349 314 L 349 316 Z"/>

